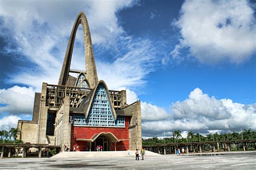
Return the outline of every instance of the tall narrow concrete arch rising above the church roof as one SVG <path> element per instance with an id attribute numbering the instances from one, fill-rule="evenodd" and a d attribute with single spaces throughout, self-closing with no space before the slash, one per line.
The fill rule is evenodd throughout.
<path id="1" fill-rule="evenodd" d="M 66 54 L 62 65 L 62 70 L 59 76 L 59 85 L 66 85 L 66 82 L 69 77 L 69 70 L 71 65 L 73 46 L 75 43 L 76 32 L 79 24 L 82 24 L 83 33 L 84 33 L 84 51 L 85 51 L 85 68 L 86 68 L 86 77 L 90 83 L 91 88 L 95 88 L 98 82 L 98 75 L 96 70 L 95 58 L 92 49 L 92 40 L 91 32 L 89 29 L 89 24 L 84 12 L 80 12 L 76 18 L 75 24 L 73 26 L 72 32 L 69 38 L 69 44 L 66 48 Z"/>

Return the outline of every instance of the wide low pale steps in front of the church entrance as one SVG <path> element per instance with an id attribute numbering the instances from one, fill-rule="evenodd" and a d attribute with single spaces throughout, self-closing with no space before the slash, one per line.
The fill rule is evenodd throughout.
<path id="1" fill-rule="evenodd" d="M 130 151 L 131 157 L 135 157 L 135 151 Z M 146 151 L 146 156 L 161 156 L 160 154 Z M 86 157 L 129 157 L 127 151 L 103 151 L 103 152 L 60 152 L 54 155 L 56 158 L 86 158 Z"/>

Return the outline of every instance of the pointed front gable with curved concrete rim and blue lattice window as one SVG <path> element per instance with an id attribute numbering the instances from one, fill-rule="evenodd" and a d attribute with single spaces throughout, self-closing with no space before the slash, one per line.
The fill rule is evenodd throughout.
<path id="1" fill-rule="evenodd" d="M 104 81 L 100 81 L 91 93 L 80 104 L 79 109 L 85 114 L 74 114 L 73 124 L 78 126 L 125 127 L 125 117 L 116 116 L 110 100 L 109 90 Z M 81 111 L 82 111 L 81 110 Z"/>

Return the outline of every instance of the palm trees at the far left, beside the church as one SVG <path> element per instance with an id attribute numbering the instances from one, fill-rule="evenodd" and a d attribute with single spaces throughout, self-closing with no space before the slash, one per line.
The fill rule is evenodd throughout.
<path id="1" fill-rule="evenodd" d="M 0 130 L 0 143 L 23 143 L 22 140 L 16 140 L 19 132 L 21 131 L 18 128 L 11 128 L 10 131 Z"/>

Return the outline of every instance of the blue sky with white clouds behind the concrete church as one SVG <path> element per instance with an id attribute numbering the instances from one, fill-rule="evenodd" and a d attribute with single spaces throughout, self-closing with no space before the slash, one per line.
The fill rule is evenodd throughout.
<path id="1" fill-rule="evenodd" d="M 99 80 L 141 101 L 142 135 L 256 130 L 255 1 L 0 0 L 0 129 L 31 120 L 57 84 L 80 11 Z M 72 69 L 86 69 L 82 26 Z"/>

